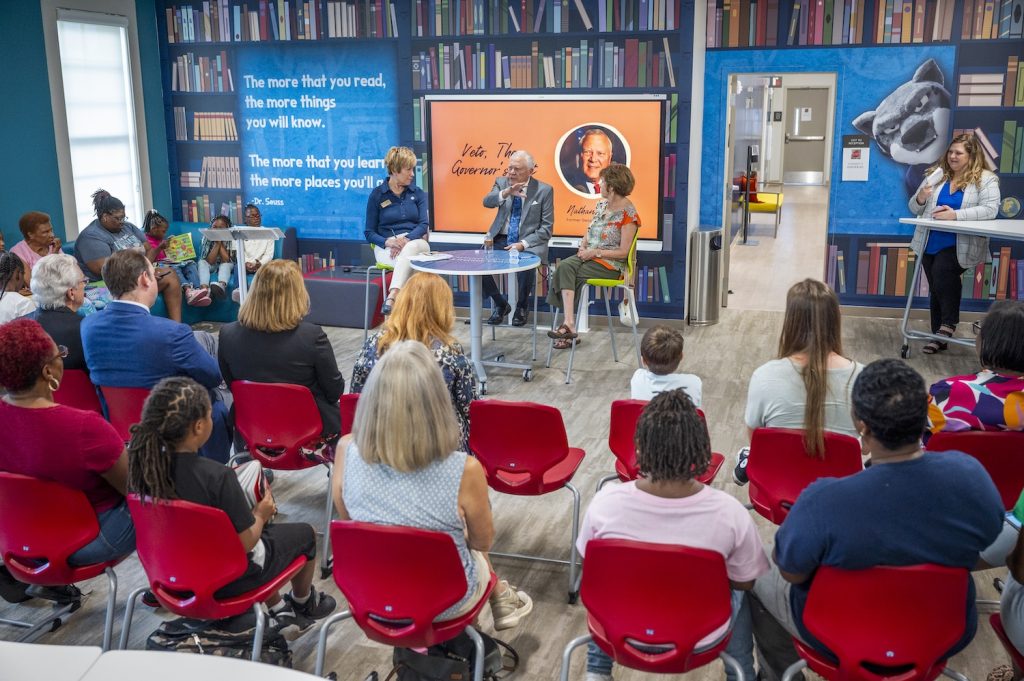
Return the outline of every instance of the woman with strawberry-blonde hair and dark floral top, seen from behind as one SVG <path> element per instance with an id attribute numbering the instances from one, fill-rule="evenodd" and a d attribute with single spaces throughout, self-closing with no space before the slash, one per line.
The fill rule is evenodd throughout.
<path id="1" fill-rule="evenodd" d="M 352 392 L 361 392 L 371 370 L 389 347 L 399 341 L 420 341 L 434 353 L 449 397 L 459 418 L 460 451 L 469 452 L 469 403 L 477 398 L 476 374 L 462 346 L 452 335 L 455 305 L 452 289 L 437 274 L 417 272 L 394 303 L 384 329 L 362 344 L 352 368 Z"/>

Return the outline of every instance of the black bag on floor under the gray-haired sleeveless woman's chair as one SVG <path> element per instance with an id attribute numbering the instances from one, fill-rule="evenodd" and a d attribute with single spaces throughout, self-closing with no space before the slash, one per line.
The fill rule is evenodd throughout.
<path id="1" fill-rule="evenodd" d="M 506 643 L 477 631 L 483 639 L 483 678 L 499 681 L 519 667 L 519 653 Z M 384 681 L 468 681 L 473 678 L 476 647 L 469 634 L 462 632 L 443 643 L 427 648 L 426 654 L 410 648 L 395 648 L 394 669 Z"/>

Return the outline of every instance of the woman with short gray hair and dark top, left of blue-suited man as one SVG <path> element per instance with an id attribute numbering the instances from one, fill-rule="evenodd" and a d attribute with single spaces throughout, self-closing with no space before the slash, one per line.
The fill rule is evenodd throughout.
<path id="1" fill-rule="evenodd" d="M 82 318 L 78 308 L 85 302 L 85 274 L 74 256 L 53 253 L 43 256 L 32 268 L 32 297 L 39 308 L 27 314 L 50 335 L 57 345 L 68 347 L 65 369 L 86 370 L 82 352 Z"/>

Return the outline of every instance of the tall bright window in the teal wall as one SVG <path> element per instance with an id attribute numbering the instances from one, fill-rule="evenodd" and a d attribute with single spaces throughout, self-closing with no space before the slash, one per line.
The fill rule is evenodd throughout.
<path id="1" fill-rule="evenodd" d="M 102 187 L 125 203 L 129 221 L 143 213 L 128 20 L 114 14 L 57 10 L 57 43 L 74 184 L 81 230 L 94 217 L 91 195 Z M 73 230 L 67 198 L 65 221 Z"/>

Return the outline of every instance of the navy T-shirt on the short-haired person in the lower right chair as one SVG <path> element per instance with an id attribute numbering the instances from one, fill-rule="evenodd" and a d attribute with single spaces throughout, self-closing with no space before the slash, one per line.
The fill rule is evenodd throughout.
<path id="1" fill-rule="evenodd" d="M 821 478 L 800 495 L 775 536 L 775 562 L 784 572 L 813 574 L 820 565 L 937 563 L 971 569 L 1002 527 L 999 493 L 981 464 L 958 452 L 925 454 L 877 464 L 844 478 Z M 947 653 L 974 638 L 974 581 L 967 576 L 967 631 Z M 804 627 L 813 578 L 793 585 L 790 605 L 801 636 L 826 648 Z"/>

